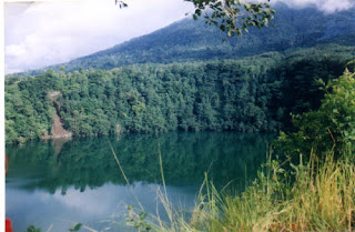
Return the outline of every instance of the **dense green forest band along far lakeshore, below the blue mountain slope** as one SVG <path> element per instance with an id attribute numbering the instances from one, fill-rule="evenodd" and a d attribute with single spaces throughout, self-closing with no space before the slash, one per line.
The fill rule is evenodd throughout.
<path id="1" fill-rule="evenodd" d="M 268 52 L 240 60 L 45 71 L 6 79 L 6 139 L 51 133 L 57 112 L 74 137 L 173 130 L 278 131 L 320 105 L 354 47 Z M 331 54 L 331 56 L 329 56 Z M 49 97 L 53 91 L 60 95 Z"/>

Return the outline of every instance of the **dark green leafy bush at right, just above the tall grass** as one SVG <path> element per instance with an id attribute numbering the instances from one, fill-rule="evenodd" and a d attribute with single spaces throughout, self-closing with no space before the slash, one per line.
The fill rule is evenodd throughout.
<path id="1" fill-rule="evenodd" d="M 326 91 L 318 110 L 296 114 L 293 123 L 296 132 L 281 133 L 282 150 L 291 155 L 307 154 L 317 150 L 318 154 L 335 149 L 342 153 L 344 148 L 355 142 L 355 78 L 344 72 L 342 77 L 327 84 L 320 80 Z"/>

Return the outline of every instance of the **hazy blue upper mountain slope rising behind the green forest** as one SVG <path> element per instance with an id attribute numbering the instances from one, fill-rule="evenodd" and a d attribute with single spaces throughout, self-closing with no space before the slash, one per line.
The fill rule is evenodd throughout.
<path id="1" fill-rule="evenodd" d="M 225 39 L 216 27 L 203 20 L 184 19 L 164 29 L 132 39 L 111 49 L 62 64 L 110 70 L 133 63 L 171 63 L 235 59 L 267 51 L 310 48 L 318 43 L 355 46 L 355 10 L 325 14 L 315 8 L 275 6 L 274 27 L 251 29 L 242 38 Z M 60 65 L 51 67 L 58 70 Z"/>

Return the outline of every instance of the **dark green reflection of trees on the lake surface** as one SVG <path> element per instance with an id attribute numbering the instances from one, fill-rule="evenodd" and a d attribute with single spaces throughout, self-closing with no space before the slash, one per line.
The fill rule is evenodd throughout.
<path id="1" fill-rule="evenodd" d="M 271 134 L 235 132 L 170 132 L 164 134 L 122 134 L 116 138 L 40 141 L 8 147 L 10 179 L 28 179 L 21 188 L 50 193 L 70 186 L 81 192 L 105 183 L 125 184 L 110 144 L 131 183 L 161 183 L 160 144 L 165 181 L 170 185 L 199 185 L 204 172 L 222 186 L 231 180 L 244 185 L 265 160 Z"/>

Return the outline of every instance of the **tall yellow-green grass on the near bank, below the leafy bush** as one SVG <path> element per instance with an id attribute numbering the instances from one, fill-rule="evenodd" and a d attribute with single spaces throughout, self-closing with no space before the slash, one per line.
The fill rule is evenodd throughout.
<path id="1" fill-rule="evenodd" d="M 241 194 L 221 193 L 207 175 L 202 189 L 189 218 L 159 191 L 169 221 L 158 214 L 145 223 L 154 231 L 355 230 L 355 164 L 348 154 L 335 160 L 328 151 L 320 161 L 312 153 L 305 163 L 301 155 L 297 165 L 270 157 Z"/>

